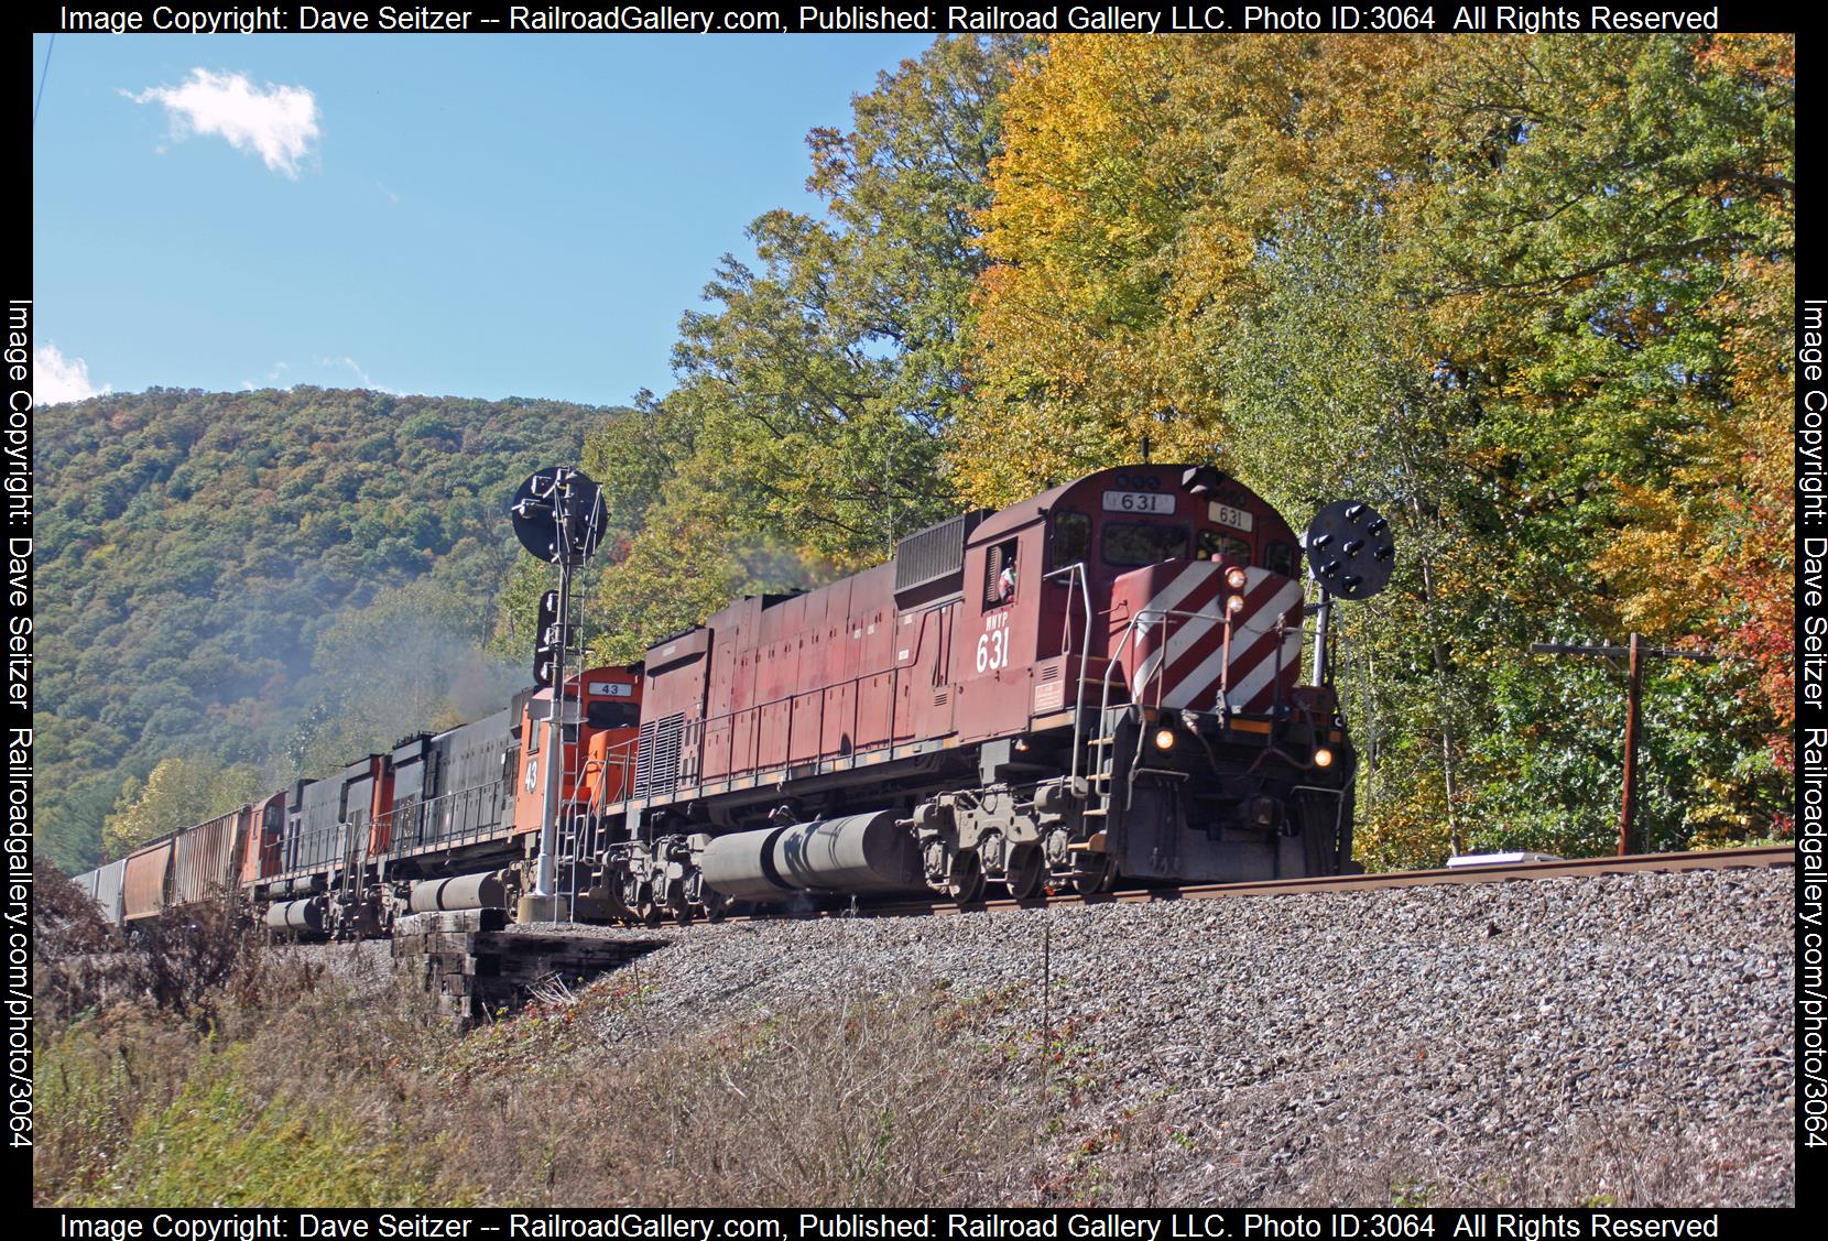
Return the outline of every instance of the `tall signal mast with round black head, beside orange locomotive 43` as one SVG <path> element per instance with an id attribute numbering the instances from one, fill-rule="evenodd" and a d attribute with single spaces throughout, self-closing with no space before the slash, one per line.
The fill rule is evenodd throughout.
<path id="1" fill-rule="evenodd" d="M 559 901 L 554 883 L 565 768 L 565 669 L 576 656 L 583 667 L 583 625 L 576 570 L 603 537 L 603 492 L 581 470 L 556 466 L 534 472 L 508 506 L 514 534 L 532 556 L 559 567 L 558 590 L 539 599 L 534 636 L 534 682 L 552 691 L 547 711 L 547 758 L 543 771 L 545 813 L 539 819 L 539 855 L 534 863 L 534 890 L 521 899 L 521 921 L 558 921 Z M 581 698 L 574 698 L 581 704 Z M 574 720 L 576 724 L 576 720 Z"/>

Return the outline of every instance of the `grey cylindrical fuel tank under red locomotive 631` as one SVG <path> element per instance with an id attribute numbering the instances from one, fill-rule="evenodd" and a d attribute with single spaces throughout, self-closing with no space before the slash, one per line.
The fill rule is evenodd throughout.
<path id="1" fill-rule="evenodd" d="M 894 810 L 786 828 L 739 832 L 711 841 L 706 885 L 744 901 L 784 901 L 801 892 L 921 892 L 914 837 Z"/>

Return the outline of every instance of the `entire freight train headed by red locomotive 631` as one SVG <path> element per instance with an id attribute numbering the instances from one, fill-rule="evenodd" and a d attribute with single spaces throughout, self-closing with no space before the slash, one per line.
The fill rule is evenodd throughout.
<path id="1" fill-rule="evenodd" d="M 1366 525 L 1347 554 L 1382 563 Z M 548 775 L 559 912 L 581 919 L 1336 874 L 1355 755 L 1333 685 L 1302 678 L 1300 559 L 1217 470 L 1102 470 L 79 881 L 119 888 L 128 923 L 238 888 L 274 930 L 344 938 L 515 910 Z"/>

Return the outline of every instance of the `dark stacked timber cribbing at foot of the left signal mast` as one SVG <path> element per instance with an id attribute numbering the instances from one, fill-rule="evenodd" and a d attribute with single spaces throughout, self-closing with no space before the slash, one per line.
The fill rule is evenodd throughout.
<path id="1" fill-rule="evenodd" d="M 393 969 L 400 981 L 435 992 L 441 1013 L 470 1024 L 519 1009 L 543 983 L 589 981 L 665 943 L 578 936 L 563 927 L 508 930 L 505 910 L 470 908 L 399 919 Z"/>

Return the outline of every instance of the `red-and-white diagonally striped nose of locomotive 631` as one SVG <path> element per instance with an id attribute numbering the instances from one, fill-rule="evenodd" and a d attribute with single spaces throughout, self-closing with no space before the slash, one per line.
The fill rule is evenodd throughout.
<path id="1" fill-rule="evenodd" d="M 1174 568 L 1139 609 L 1135 700 L 1212 711 L 1223 689 L 1232 711 L 1259 713 L 1287 698 L 1302 673 L 1302 583 L 1210 561 Z"/>

